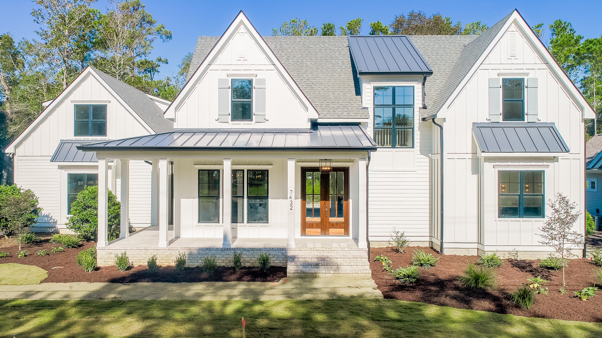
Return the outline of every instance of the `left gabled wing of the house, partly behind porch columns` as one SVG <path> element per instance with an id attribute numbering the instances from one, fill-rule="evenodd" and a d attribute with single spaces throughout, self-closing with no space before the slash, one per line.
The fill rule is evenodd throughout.
<path id="1" fill-rule="evenodd" d="M 77 146 L 92 141 L 173 130 L 163 117 L 169 101 L 142 93 L 87 67 L 5 152 L 14 159 L 14 183 L 32 189 L 43 208 L 33 231 L 68 231 L 69 204 L 84 186 L 98 185 L 98 160 Z M 132 161 L 130 226 L 151 224 L 151 165 Z M 119 161 L 109 164 L 109 188 L 119 195 Z"/>

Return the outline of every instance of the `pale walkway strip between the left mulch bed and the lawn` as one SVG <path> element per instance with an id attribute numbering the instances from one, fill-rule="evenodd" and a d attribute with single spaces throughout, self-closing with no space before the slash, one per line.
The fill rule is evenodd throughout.
<path id="1" fill-rule="evenodd" d="M 278 283 L 42 283 L 0 285 L 0 300 L 315 300 L 383 298 L 371 278 L 288 277 Z"/>

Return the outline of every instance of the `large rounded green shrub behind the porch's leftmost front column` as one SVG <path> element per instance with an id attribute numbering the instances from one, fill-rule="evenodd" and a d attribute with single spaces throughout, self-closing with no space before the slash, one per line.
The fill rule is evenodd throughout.
<path id="1" fill-rule="evenodd" d="M 120 203 L 117 196 L 108 190 L 108 238 L 119 237 Z M 85 239 L 96 238 L 98 232 L 98 186 L 86 186 L 71 204 L 71 215 L 67 218 L 67 229 L 79 233 Z"/>

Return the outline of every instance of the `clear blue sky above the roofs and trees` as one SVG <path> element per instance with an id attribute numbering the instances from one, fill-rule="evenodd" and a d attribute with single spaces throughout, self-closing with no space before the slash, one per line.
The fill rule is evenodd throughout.
<path id="1" fill-rule="evenodd" d="M 182 57 L 194 51 L 199 35 L 222 35 L 238 11 L 243 10 L 262 35 L 272 35 L 272 28 L 278 28 L 285 20 L 294 17 L 308 20 L 310 25 L 320 27 L 324 22 L 332 22 L 337 27 L 350 19 L 364 19 L 362 34 L 368 34 L 369 23 L 380 20 L 391 23 L 398 14 L 411 10 L 424 11 L 428 16 L 441 13 L 453 22 L 465 23 L 481 21 L 493 25 L 514 8 L 523 15 L 530 25 L 544 22 L 547 27 L 556 19 L 573 23 L 577 33 L 586 38 L 602 35 L 602 1 L 597 0 L 521 0 L 521 1 L 432 1 L 415 0 L 411 4 L 403 1 L 166 1 L 142 0 L 146 10 L 155 20 L 163 23 L 173 32 L 173 38 L 165 43 L 157 40 L 152 58 L 161 56 L 169 64 L 161 66 L 160 77 L 175 75 Z M 37 5 L 28 0 L 0 0 L 0 34 L 10 32 L 15 40 L 36 38 L 38 26 L 33 22 L 31 10 Z M 107 2 L 101 0 L 93 7 L 104 11 Z M 544 38 L 549 38 L 546 30 Z M 338 34 L 338 31 L 337 31 Z"/>

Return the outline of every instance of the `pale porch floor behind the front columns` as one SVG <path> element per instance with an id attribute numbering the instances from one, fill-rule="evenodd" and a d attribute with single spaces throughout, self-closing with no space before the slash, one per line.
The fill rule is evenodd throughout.
<path id="1" fill-rule="evenodd" d="M 170 227 L 171 228 L 171 227 Z M 170 248 L 221 248 L 222 238 L 173 238 L 169 230 L 167 238 Z M 109 244 L 111 248 L 156 248 L 159 242 L 159 227 L 152 226 Z M 352 238 L 329 238 L 311 236 L 295 239 L 296 248 L 358 248 Z M 286 238 L 235 238 L 232 248 L 286 248 Z"/>

